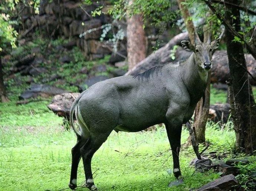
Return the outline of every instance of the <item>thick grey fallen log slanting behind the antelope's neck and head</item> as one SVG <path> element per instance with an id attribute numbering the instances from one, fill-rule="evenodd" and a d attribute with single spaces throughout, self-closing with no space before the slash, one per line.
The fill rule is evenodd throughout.
<path id="1" fill-rule="evenodd" d="M 150 54 L 147 58 L 139 62 L 134 68 L 129 70 L 125 75 L 137 75 L 155 65 L 182 62 L 191 55 L 190 51 L 186 51 L 178 47 L 175 52 L 175 59 L 170 57 L 171 51 L 175 45 L 180 45 L 180 41 L 187 40 L 187 33 L 180 33 L 173 37 L 164 47 Z M 251 54 L 244 54 L 246 58 L 247 71 L 256 79 L 256 60 Z M 227 51 L 216 51 L 212 58 L 213 68 L 211 69 L 211 83 L 226 83 L 230 78 L 229 63 Z M 256 85 L 256 81 L 249 75 L 249 80 L 252 85 Z"/>

